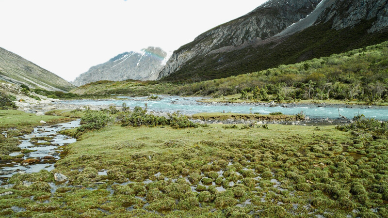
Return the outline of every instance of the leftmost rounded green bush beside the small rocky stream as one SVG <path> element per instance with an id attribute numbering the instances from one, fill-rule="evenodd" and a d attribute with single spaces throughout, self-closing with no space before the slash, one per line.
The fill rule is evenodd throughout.
<path id="1" fill-rule="evenodd" d="M 86 109 L 81 117 L 82 125 L 77 129 L 83 132 L 92 129 L 101 129 L 107 125 L 113 124 L 114 118 L 105 111 Z"/>

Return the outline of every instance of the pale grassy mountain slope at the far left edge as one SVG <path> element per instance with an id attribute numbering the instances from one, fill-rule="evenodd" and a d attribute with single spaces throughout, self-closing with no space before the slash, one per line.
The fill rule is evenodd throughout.
<path id="1" fill-rule="evenodd" d="M 74 88 L 65 79 L 1 47 L 0 79 L 49 91 L 67 92 Z"/>

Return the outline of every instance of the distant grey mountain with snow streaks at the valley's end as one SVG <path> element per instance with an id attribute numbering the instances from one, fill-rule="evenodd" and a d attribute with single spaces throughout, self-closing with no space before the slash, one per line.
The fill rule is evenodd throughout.
<path id="1" fill-rule="evenodd" d="M 155 80 L 162 70 L 167 53 L 160 47 L 148 47 L 141 52 L 124 52 L 108 62 L 91 67 L 72 84 L 81 86 L 99 80 Z"/>

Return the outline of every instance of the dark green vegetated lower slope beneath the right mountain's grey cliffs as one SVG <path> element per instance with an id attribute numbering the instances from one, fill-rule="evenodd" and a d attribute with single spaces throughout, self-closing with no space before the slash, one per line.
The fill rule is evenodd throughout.
<path id="1" fill-rule="evenodd" d="M 163 80 L 197 82 L 227 78 L 387 41 L 387 31 L 368 32 L 374 21 L 375 19 L 363 20 L 355 27 L 338 31 L 332 29 L 331 22 L 320 23 L 295 33 L 280 43 L 275 41 L 230 52 L 194 57 L 181 64 L 179 70 Z M 191 47 L 190 44 L 186 46 Z"/>

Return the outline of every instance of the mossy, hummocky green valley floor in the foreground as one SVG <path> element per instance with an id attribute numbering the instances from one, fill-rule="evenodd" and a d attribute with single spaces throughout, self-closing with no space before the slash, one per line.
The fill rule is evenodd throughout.
<path id="1" fill-rule="evenodd" d="M 388 140 L 360 140 L 333 125 L 241 127 L 83 133 L 53 171 L 11 177 L 0 188 L 0 215 L 388 216 Z M 68 182 L 55 184 L 55 172 Z"/>

